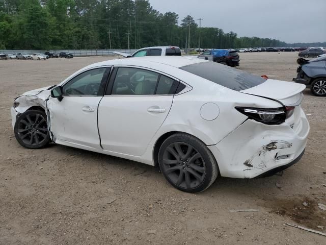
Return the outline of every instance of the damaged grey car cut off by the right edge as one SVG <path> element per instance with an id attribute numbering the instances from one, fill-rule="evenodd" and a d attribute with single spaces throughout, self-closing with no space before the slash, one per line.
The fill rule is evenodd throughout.
<path id="1" fill-rule="evenodd" d="M 316 96 L 326 96 L 326 55 L 312 60 L 297 59 L 296 83 L 305 84 Z"/>

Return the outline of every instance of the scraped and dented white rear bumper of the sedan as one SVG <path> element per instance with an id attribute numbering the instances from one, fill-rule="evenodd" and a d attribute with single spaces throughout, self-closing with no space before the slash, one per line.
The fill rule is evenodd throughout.
<path id="1" fill-rule="evenodd" d="M 309 133 L 308 120 L 300 110 L 295 130 L 286 122 L 264 125 L 248 119 L 218 144 L 209 145 L 221 176 L 255 178 L 300 158 Z"/>

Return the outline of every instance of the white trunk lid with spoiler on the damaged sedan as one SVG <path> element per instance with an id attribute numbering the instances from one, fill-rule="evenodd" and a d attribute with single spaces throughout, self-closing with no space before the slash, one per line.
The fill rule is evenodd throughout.
<path id="1" fill-rule="evenodd" d="M 268 99 L 279 101 L 285 106 L 289 106 L 302 100 L 301 92 L 305 88 L 306 85 L 303 84 L 267 79 L 266 82 L 258 86 L 241 90 L 239 92 L 266 97 Z"/>

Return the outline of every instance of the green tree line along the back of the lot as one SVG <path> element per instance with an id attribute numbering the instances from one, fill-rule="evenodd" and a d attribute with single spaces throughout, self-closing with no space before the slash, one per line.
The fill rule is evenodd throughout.
<path id="1" fill-rule="evenodd" d="M 125 49 L 305 46 L 259 37 L 238 37 L 220 28 L 199 28 L 192 16 L 178 25 L 148 0 L 0 0 L 0 49 Z M 310 46 L 326 46 L 313 43 Z"/>

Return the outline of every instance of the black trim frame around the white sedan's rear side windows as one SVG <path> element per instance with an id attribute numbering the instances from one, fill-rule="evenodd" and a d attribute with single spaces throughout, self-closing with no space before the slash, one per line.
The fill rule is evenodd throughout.
<path id="1" fill-rule="evenodd" d="M 157 79 L 157 82 L 156 82 L 156 87 L 155 87 L 155 93 L 156 93 L 156 89 L 157 89 L 157 86 L 158 86 L 158 82 L 159 82 L 159 78 L 160 76 L 166 76 L 168 78 L 171 78 L 174 80 L 174 82 L 177 83 L 176 86 L 176 91 L 177 91 L 177 88 L 179 86 L 180 83 L 182 83 L 183 85 L 185 85 L 185 87 L 189 88 L 187 89 L 186 91 L 180 91 L 179 93 L 173 93 L 173 94 L 112 94 L 112 88 L 113 88 L 113 84 L 114 84 L 114 80 L 117 76 L 117 71 L 119 69 L 119 67 L 129 67 L 129 68 L 138 68 L 138 69 L 143 69 L 143 70 L 148 70 L 148 71 L 152 71 L 152 72 L 155 72 L 157 73 L 159 76 L 158 76 L 158 79 Z M 172 85 L 173 86 L 173 85 Z M 174 96 L 174 95 L 179 95 L 179 94 L 182 94 L 182 93 L 185 93 L 185 92 L 188 92 L 190 90 L 192 90 L 193 87 L 188 85 L 187 83 L 181 81 L 180 79 L 178 78 L 175 78 L 169 74 L 166 74 L 162 71 L 159 71 L 159 70 L 155 70 L 155 69 L 152 69 L 152 68 L 148 68 L 148 67 L 143 67 L 143 66 L 137 66 L 137 65 L 113 65 L 112 67 L 112 72 L 110 73 L 110 78 L 108 79 L 108 83 L 106 85 L 106 89 L 104 91 L 104 95 L 103 96 Z"/>

